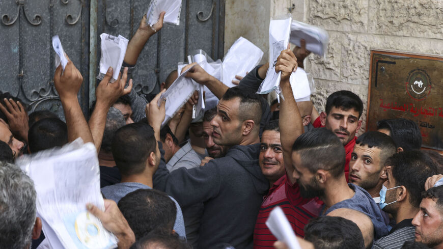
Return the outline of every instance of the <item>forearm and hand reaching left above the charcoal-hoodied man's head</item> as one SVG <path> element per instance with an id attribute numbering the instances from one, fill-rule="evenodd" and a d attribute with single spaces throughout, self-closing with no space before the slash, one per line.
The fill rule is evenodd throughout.
<path id="1" fill-rule="evenodd" d="M 195 67 L 191 68 L 185 77 L 192 78 L 195 80 L 198 84 L 204 85 L 211 90 L 211 92 L 218 98 L 221 99 L 223 95 L 228 91 L 228 88 L 223 82 L 216 79 L 214 76 L 207 73 L 200 65 L 198 65 L 196 62 L 186 65 L 183 67 L 182 72 L 187 70 L 188 68 L 192 67 L 193 65 L 196 65 Z"/>

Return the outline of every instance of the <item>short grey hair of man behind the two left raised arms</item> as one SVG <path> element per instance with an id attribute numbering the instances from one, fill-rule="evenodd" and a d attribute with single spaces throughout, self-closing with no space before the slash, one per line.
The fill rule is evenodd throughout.
<path id="1" fill-rule="evenodd" d="M 126 125 L 125 117 L 122 112 L 115 107 L 110 107 L 106 115 L 106 125 L 103 132 L 101 149 L 106 153 L 112 152 L 112 141 L 116 131 Z"/>

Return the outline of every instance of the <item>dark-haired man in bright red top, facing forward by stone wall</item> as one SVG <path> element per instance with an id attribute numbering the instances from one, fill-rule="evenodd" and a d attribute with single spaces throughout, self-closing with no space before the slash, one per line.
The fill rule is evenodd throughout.
<path id="1" fill-rule="evenodd" d="M 334 132 L 345 147 L 345 176 L 348 180 L 349 162 L 355 145 L 355 134 L 362 127 L 363 102 L 350 91 L 335 92 L 326 100 L 325 112 L 314 121 L 314 127 L 326 127 Z"/>

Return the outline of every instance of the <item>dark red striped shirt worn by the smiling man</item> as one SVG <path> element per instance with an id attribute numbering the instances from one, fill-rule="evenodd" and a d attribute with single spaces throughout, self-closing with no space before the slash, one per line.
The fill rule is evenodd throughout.
<path id="1" fill-rule="evenodd" d="M 260 206 L 254 228 L 254 249 L 274 248 L 273 244 L 277 239 L 265 224 L 274 207 L 280 206 L 295 234 L 304 237 L 304 225 L 308 224 L 311 218 L 318 216 L 322 205 L 323 203 L 317 198 L 302 198 L 298 184 L 291 185 L 286 175 L 282 176 L 269 189 L 268 196 Z"/>

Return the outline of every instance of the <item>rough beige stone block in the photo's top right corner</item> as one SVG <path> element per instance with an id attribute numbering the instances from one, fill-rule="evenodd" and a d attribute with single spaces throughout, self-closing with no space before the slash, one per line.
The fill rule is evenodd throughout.
<path id="1" fill-rule="evenodd" d="M 408 37 L 443 37 L 443 1 L 377 0 L 369 6 L 370 33 Z"/>

